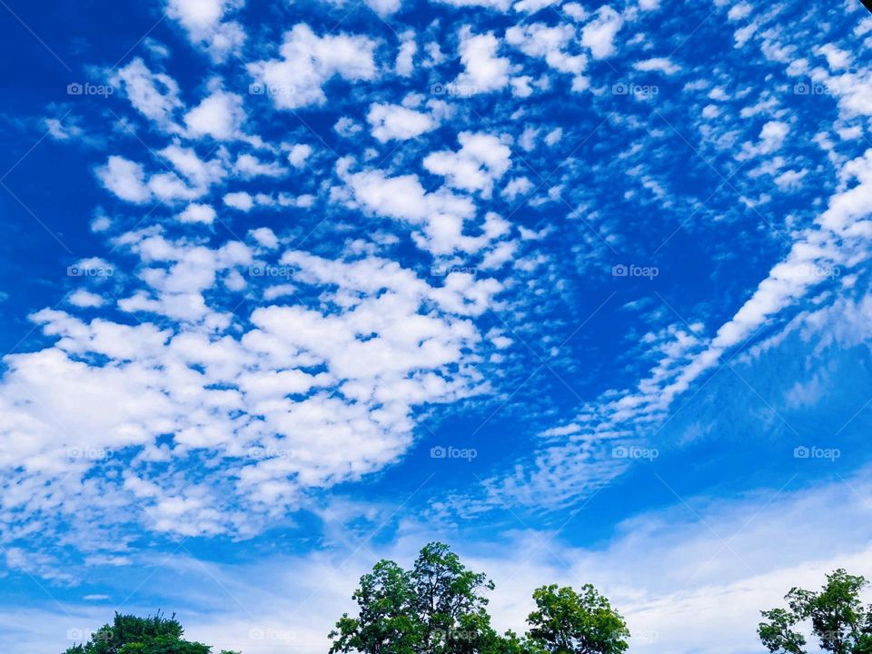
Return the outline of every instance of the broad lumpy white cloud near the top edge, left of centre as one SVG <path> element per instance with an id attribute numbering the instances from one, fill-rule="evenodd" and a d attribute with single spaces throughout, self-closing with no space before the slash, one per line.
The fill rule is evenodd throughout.
<path id="1" fill-rule="evenodd" d="M 284 35 L 281 59 L 255 62 L 248 70 L 277 107 L 297 109 L 326 102 L 322 87 L 333 76 L 349 82 L 375 79 L 374 49 L 367 36 L 318 36 L 301 23 Z"/>

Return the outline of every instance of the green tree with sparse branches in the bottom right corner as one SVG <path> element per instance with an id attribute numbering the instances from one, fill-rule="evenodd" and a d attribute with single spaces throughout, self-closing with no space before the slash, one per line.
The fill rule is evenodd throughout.
<path id="1" fill-rule="evenodd" d="M 810 623 L 821 649 L 833 654 L 872 652 L 872 607 L 864 607 L 860 591 L 863 577 L 838 569 L 827 575 L 819 591 L 793 588 L 784 599 L 787 609 L 761 611 L 760 642 L 778 654 L 806 654 L 806 639 L 795 629 Z"/>

